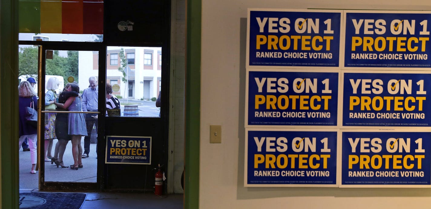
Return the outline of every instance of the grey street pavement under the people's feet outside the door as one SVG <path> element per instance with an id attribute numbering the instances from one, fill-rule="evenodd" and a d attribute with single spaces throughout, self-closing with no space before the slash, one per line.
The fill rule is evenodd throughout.
<path id="1" fill-rule="evenodd" d="M 54 139 L 52 155 L 54 154 L 54 147 L 57 139 Z M 84 137 L 81 140 L 82 148 L 84 148 Z M 103 155 L 102 155 L 103 156 Z M 66 152 L 63 156 L 64 165 L 70 166 L 73 164 L 72 157 L 72 142 L 66 146 Z M 60 168 L 51 162 L 45 162 L 45 181 L 59 181 L 59 182 L 96 182 L 97 176 L 97 159 L 96 159 L 96 144 L 90 144 L 90 157 L 82 159 L 84 168 L 78 170 L 71 170 L 69 168 Z M 19 150 L 19 189 L 20 190 L 33 190 L 38 189 L 39 171 L 36 174 L 30 174 L 30 151 L 22 152 Z"/>

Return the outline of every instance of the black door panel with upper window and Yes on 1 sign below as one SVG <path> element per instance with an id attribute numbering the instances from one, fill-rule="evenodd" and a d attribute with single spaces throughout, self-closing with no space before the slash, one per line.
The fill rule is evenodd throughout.
<path id="1" fill-rule="evenodd" d="M 169 65 L 159 59 L 165 51 L 145 46 L 106 48 L 102 150 L 108 190 L 153 192 L 156 184 L 166 191 L 166 181 L 154 178 L 168 165 Z"/>

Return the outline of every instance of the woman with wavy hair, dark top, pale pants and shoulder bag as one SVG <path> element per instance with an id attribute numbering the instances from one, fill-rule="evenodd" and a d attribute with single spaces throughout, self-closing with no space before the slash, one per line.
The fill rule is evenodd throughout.
<path id="1" fill-rule="evenodd" d="M 31 174 L 36 173 L 36 161 L 37 161 L 37 129 L 35 126 L 27 123 L 25 119 L 25 108 L 30 107 L 37 109 L 37 98 L 36 93 L 33 91 L 33 87 L 28 81 L 23 81 L 19 84 L 19 143 L 18 150 L 21 148 L 22 142 L 25 138 L 28 139 L 28 146 L 30 148 L 30 161 L 31 161 Z"/>

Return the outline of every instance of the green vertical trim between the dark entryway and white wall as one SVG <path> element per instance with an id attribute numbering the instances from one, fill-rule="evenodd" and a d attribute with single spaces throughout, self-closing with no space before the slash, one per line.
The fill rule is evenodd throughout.
<path id="1" fill-rule="evenodd" d="M 201 0 L 187 0 L 184 209 L 199 208 Z"/>

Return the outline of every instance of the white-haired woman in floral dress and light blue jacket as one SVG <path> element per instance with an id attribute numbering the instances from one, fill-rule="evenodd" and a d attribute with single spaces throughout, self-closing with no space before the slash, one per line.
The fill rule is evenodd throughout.
<path id="1" fill-rule="evenodd" d="M 56 110 L 54 102 L 58 96 L 55 90 L 58 89 L 59 85 L 60 81 L 57 77 L 54 76 L 48 79 L 47 85 L 45 86 L 45 88 L 48 89 L 47 93 L 45 94 L 45 110 Z M 53 139 L 57 138 L 55 135 L 55 118 L 56 113 L 45 113 L 45 162 L 51 161 Z"/>

